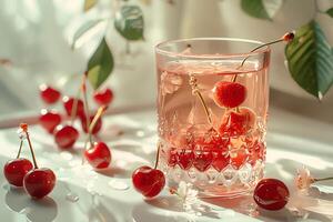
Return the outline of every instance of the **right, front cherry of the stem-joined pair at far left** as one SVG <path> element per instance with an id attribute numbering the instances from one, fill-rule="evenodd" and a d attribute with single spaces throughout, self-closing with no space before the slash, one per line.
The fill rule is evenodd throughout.
<path id="1" fill-rule="evenodd" d="M 31 170 L 23 179 L 24 190 L 34 199 L 48 195 L 53 190 L 54 184 L 56 174 L 47 168 Z"/>

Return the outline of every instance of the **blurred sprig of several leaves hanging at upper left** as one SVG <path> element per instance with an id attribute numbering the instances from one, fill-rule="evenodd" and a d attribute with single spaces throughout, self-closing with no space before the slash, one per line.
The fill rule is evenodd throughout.
<path id="1" fill-rule="evenodd" d="M 83 11 L 89 11 L 95 7 L 98 0 L 85 0 L 83 6 Z M 84 40 L 84 37 L 89 34 L 94 28 L 97 28 L 101 22 L 109 19 L 95 19 L 85 22 L 74 33 L 72 39 L 72 49 L 78 48 L 78 42 Z M 143 40 L 143 14 L 142 10 L 138 6 L 123 4 L 115 12 L 115 18 L 113 20 L 114 28 L 120 36 L 122 36 L 127 46 L 129 41 Z M 108 29 L 108 27 L 105 28 Z M 107 31 L 104 30 L 104 33 Z M 102 38 L 101 42 L 97 47 L 95 51 L 91 54 L 87 71 L 90 84 L 94 90 L 97 90 L 111 74 L 114 67 L 113 56 L 110 47 L 107 43 L 105 36 Z"/>

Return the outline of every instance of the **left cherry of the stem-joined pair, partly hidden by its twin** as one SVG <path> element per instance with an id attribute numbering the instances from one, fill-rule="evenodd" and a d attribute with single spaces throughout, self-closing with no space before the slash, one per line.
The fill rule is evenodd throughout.
<path id="1" fill-rule="evenodd" d="M 10 184 L 22 186 L 24 175 L 32 170 L 32 168 L 33 165 L 29 160 L 19 158 L 6 163 L 3 174 Z"/>

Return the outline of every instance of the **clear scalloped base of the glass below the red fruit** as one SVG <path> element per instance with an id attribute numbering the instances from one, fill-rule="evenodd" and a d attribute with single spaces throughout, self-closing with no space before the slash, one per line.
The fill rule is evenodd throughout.
<path id="1" fill-rule="evenodd" d="M 183 181 L 192 184 L 199 198 L 236 198 L 254 189 L 263 178 L 264 163 L 258 161 L 254 167 L 245 163 L 238 170 L 228 165 L 221 172 L 213 168 L 200 172 L 195 168 L 189 170 L 182 170 L 179 165 L 170 168 L 162 160 L 159 168 L 165 173 L 169 188 L 176 190 Z"/>

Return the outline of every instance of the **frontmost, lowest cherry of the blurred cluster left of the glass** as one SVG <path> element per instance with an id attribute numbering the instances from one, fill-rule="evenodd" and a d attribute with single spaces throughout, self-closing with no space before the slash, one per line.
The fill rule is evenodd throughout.
<path id="1" fill-rule="evenodd" d="M 95 169 L 108 168 L 111 162 L 111 152 L 103 142 L 98 142 L 93 148 L 84 151 L 87 161 Z"/>

